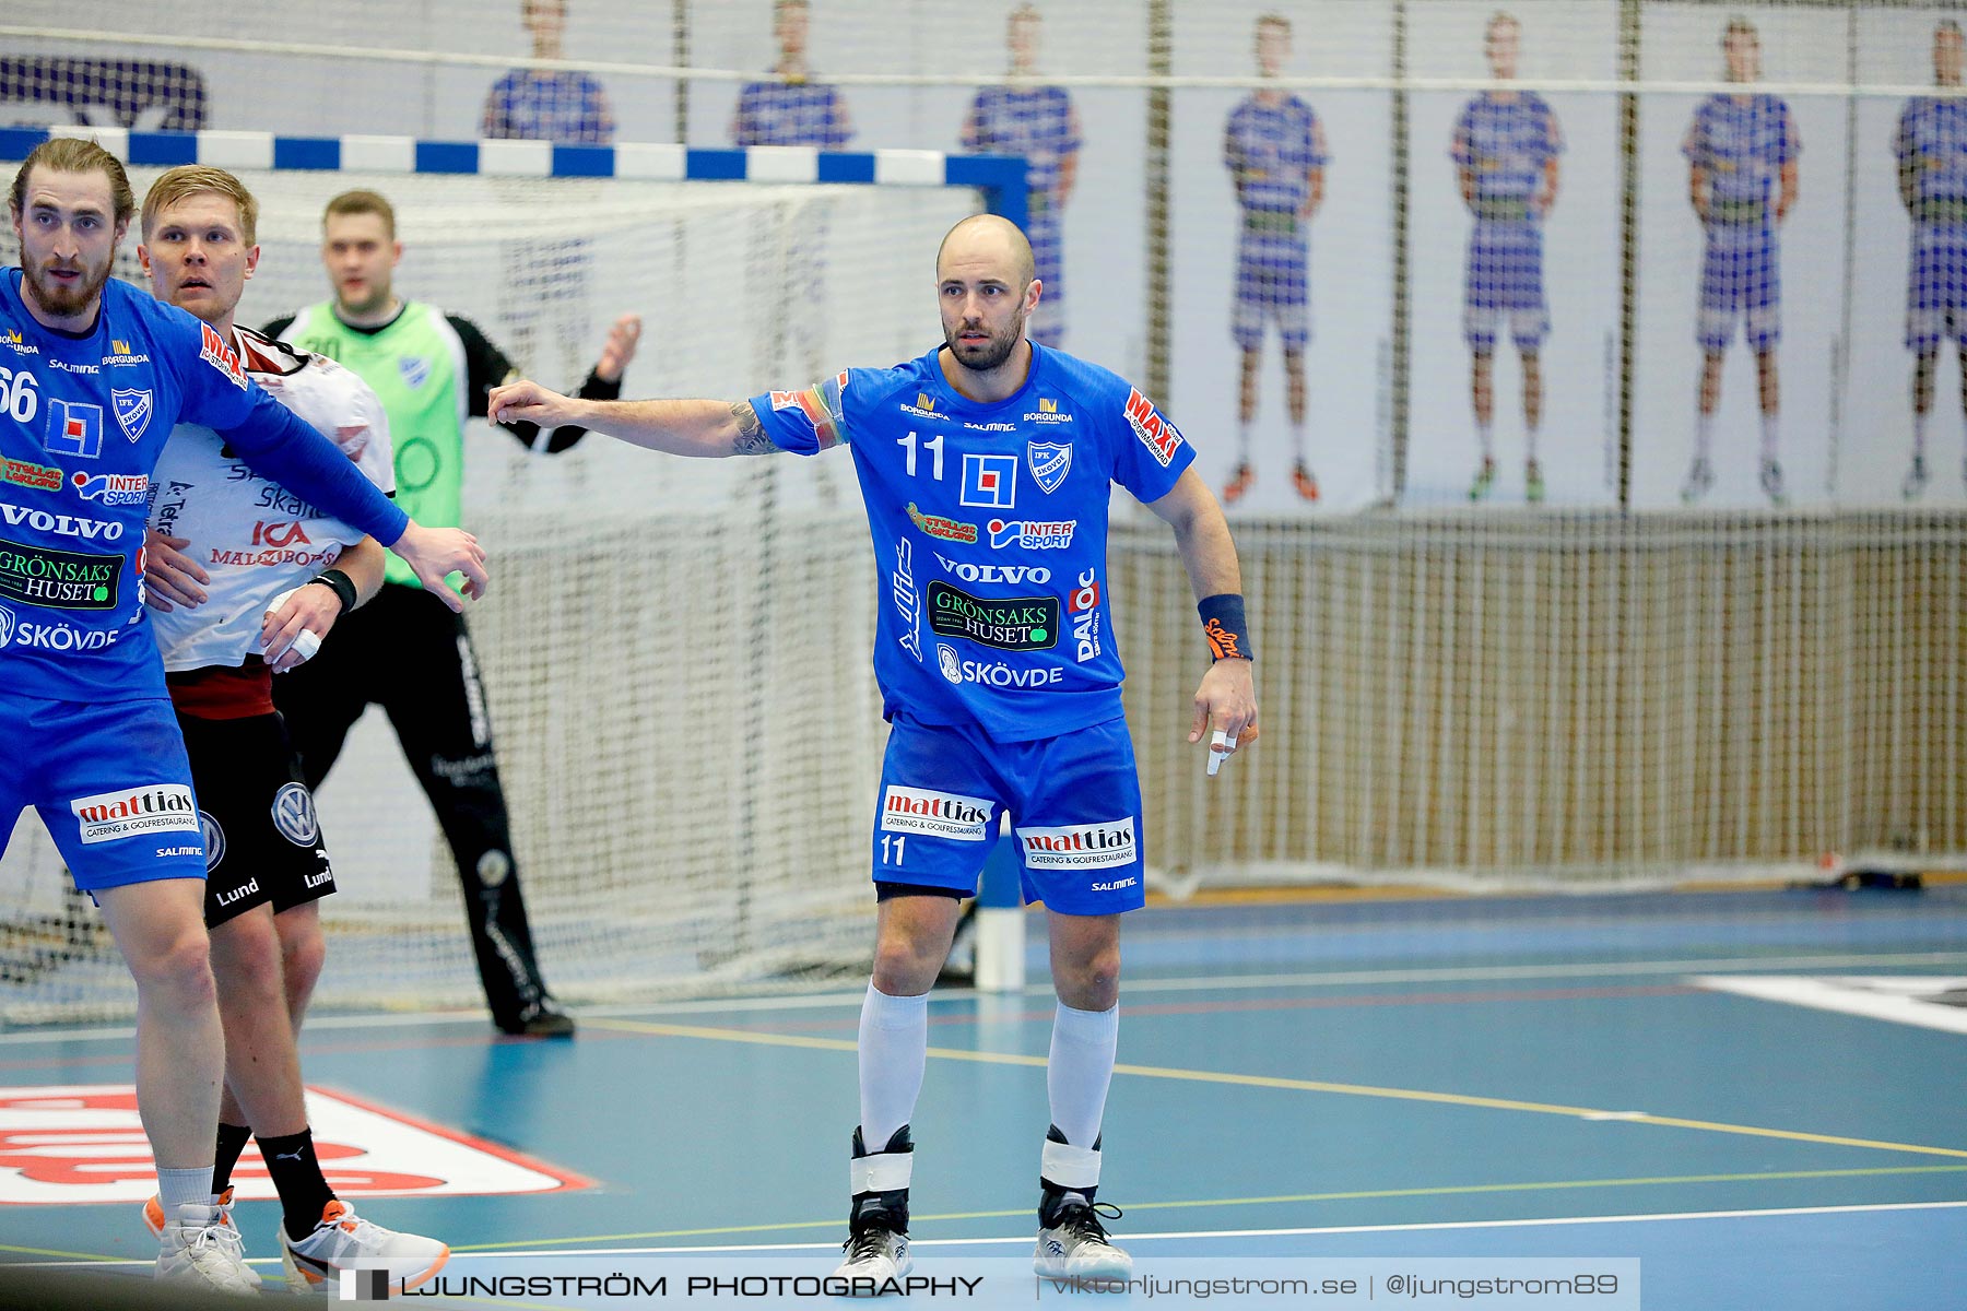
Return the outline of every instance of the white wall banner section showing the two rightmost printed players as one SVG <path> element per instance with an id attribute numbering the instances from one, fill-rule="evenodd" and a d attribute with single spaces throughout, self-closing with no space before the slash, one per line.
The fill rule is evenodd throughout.
<path id="1" fill-rule="evenodd" d="M 1650 98 L 1640 120 L 1633 505 L 1967 503 L 1959 24 L 1646 8 L 1648 77 L 1739 90 Z M 1758 88 L 1847 83 L 1853 31 L 1859 83 L 1934 92 Z"/>

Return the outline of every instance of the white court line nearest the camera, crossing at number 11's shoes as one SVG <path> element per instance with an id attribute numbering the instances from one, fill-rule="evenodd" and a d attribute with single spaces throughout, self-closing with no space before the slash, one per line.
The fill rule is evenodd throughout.
<path id="1" fill-rule="evenodd" d="M 1176 1242 L 1176 1240 L 1198 1240 L 1198 1238 L 1308 1238 L 1320 1234 L 1404 1234 L 1404 1232 L 1430 1232 L 1430 1230 L 1452 1230 L 1452 1228 L 1548 1228 L 1558 1225 L 1658 1225 L 1668 1221 L 1753 1221 L 1768 1217 L 1794 1217 L 1794 1215 L 1867 1215 L 1884 1211 L 1959 1211 L 1967 1209 L 1967 1199 L 1963 1201 L 1888 1201 L 1888 1203 L 1865 1203 L 1851 1207 L 1768 1207 L 1758 1211 L 1660 1211 L 1650 1215 L 1554 1215 L 1528 1221 L 1434 1221 L 1420 1225 L 1324 1225 L 1310 1228 L 1206 1228 L 1206 1230 L 1170 1230 L 1164 1234 L 1125 1234 L 1127 1242 Z M 1019 1211 L 1017 1215 L 1025 1215 Z M 1003 1246 L 1003 1244 L 1031 1244 L 1031 1238 L 1023 1234 L 1005 1238 L 915 1238 L 911 1246 L 915 1248 L 980 1248 L 980 1246 Z M 30 1248 L 0 1248 L 6 1250 L 30 1250 Z M 557 1258 L 566 1260 L 570 1256 L 690 1256 L 690 1254 L 718 1254 L 718 1252 L 838 1252 L 838 1242 L 744 1242 L 744 1244 L 720 1244 L 720 1246 L 688 1246 L 688 1248 L 535 1248 L 527 1252 L 476 1252 L 472 1248 L 452 1248 L 454 1252 L 470 1252 L 474 1256 L 484 1256 L 486 1260 L 533 1260 L 533 1258 Z M 271 1258 L 268 1258 L 271 1260 Z M 73 1268 L 112 1268 L 112 1266 L 149 1266 L 149 1260 L 128 1260 L 128 1258 L 102 1258 L 102 1260 L 83 1260 L 83 1262 L 16 1262 L 20 1270 L 73 1270 Z M 248 1264 L 260 1264 L 248 1262 Z M 0 1266 L 6 1270 L 8 1266 Z"/>

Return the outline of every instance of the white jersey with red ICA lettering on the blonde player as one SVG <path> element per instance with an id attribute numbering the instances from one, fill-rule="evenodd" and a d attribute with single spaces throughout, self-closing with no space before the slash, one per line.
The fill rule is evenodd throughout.
<path id="1" fill-rule="evenodd" d="M 327 356 L 234 328 L 246 371 L 275 401 L 342 448 L 370 482 L 395 495 L 389 419 L 366 381 Z M 348 527 L 275 482 L 254 474 L 220 436 L 181 423 L 149 480 L 149 527 L 189 539 L 185 552 L 210 574 L 207 601 L 149 613 L 163 668 L 244 664 L 260 651 L 268 601 L 334 564 L 362 541 Z"/>

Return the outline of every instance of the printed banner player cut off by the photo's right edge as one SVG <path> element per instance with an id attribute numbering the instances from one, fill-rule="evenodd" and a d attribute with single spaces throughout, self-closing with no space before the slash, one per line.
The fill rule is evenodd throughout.
<path id="1" fill-rule="evenodd" d="M 1961 26 L 1934 29 L 1934 85 L 1961 86 Z M 1934 413 L 1939 342 L 1961 350 L 1961 409 L 1967 411 L 1967 100 L 1914 96 L 1892 138 L 1898 199 L 1912 216 L 1912 269 L 1906 287 L 1906 350 L 1912 352 L 1912 468 L 1904 497 L 1926 489 L 1926 425 Z"/>

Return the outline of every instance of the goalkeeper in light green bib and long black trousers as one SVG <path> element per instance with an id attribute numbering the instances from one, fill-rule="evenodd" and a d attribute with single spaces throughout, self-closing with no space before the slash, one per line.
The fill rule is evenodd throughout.
<path id="1" fill-rule="evenodd" d="M 395 297 L 391 275 L 403 244 L 384 197 L 342 193 L 328 200 L 321 226 L 334 299 L 275 318 L 266 334 L 338 362 L 376 391 L 395 436 L 397 503 L 419 523 L 452 527 L 464 425 L 486 415 L 492 387 L 517 370 L 468 318 Z M 633 314 L 616 320 L 582 397 L 612 401 L 622 393 L 622 370 L 639 334 Z M 586 436 L 580 427 L 504 428 L 547 454 Z M 334 767 L 354 721 L 370 706 L 384 708 L 456 857 L 494 1024 L 507 1034 L 572 1034 L 574 1022 L 547 993 L 533 951 L 492 721 L 462 619 L 391 554 L 376 599 L 336 625 L 332 647 L 275 682 L 275 702 L 311 788 Z"/>

